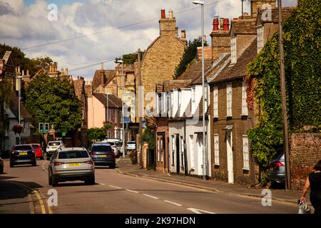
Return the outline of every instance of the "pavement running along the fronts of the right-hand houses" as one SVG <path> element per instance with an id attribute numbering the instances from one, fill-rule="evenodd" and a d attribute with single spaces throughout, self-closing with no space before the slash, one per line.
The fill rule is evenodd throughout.
<path id="1" fill-rule="evenodd" d="M 130 175 L 133 177 L 141 177 L 151 180 L 158 180 L 161 182 L 170 182 L 177 185 L 185 185 L 189 187 L 195 187 L 198 189 L 209 190 L 213 192 L 221 192 L 228 195 L 238 195 L 246 197 L 260 197 L 261 199 L 266 195 L 263 190 L 267 190 L 267 187 L 245 187 L 244 185 L 229 184 L 219 180 L 203 180 L 198 177 L 183 176 L 183 175 L 172 175 L 166 174 L 154 170 L 143 170 L 138 165 L 133 165 L 129 157 L 118 159 L 116 170 L 123 175 Z M 297 190 L 279 190 L 269 189 L 272 192 L 272 200 L 289 202 L 297 204 L 297 200 L 300 199 L 301 191 Z M 309 192 L 306 195 L 306 199 L 309 199 Z"/>

